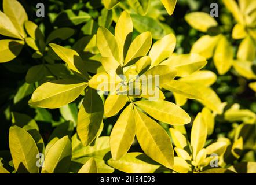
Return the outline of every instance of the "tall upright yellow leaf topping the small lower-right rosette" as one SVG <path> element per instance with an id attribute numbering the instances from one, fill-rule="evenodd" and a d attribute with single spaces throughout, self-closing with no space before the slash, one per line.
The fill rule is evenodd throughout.
<path id="1" fill-rule="evenodd" d="M 193 151 L 193 158 L 204 147 L 204 143 L 207 138 L 207 125 L 202 118 L 202 113 L 198 113 L 195 120 L 193 121 L 191 129 L 191 146 Z"/>

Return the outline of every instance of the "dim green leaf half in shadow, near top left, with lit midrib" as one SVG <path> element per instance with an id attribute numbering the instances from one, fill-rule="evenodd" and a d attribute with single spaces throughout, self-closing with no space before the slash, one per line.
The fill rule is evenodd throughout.
<path id="1" fill-rule="evenodd" d="M 68 9 L 59 13 L 53 24 L 58 27 L 68 27 L 85 23 L 90 20 L 90 18 L 90 14 L 86 12 L 80 10 L 78 13 L 74 13 L 73 10 Z"/>

